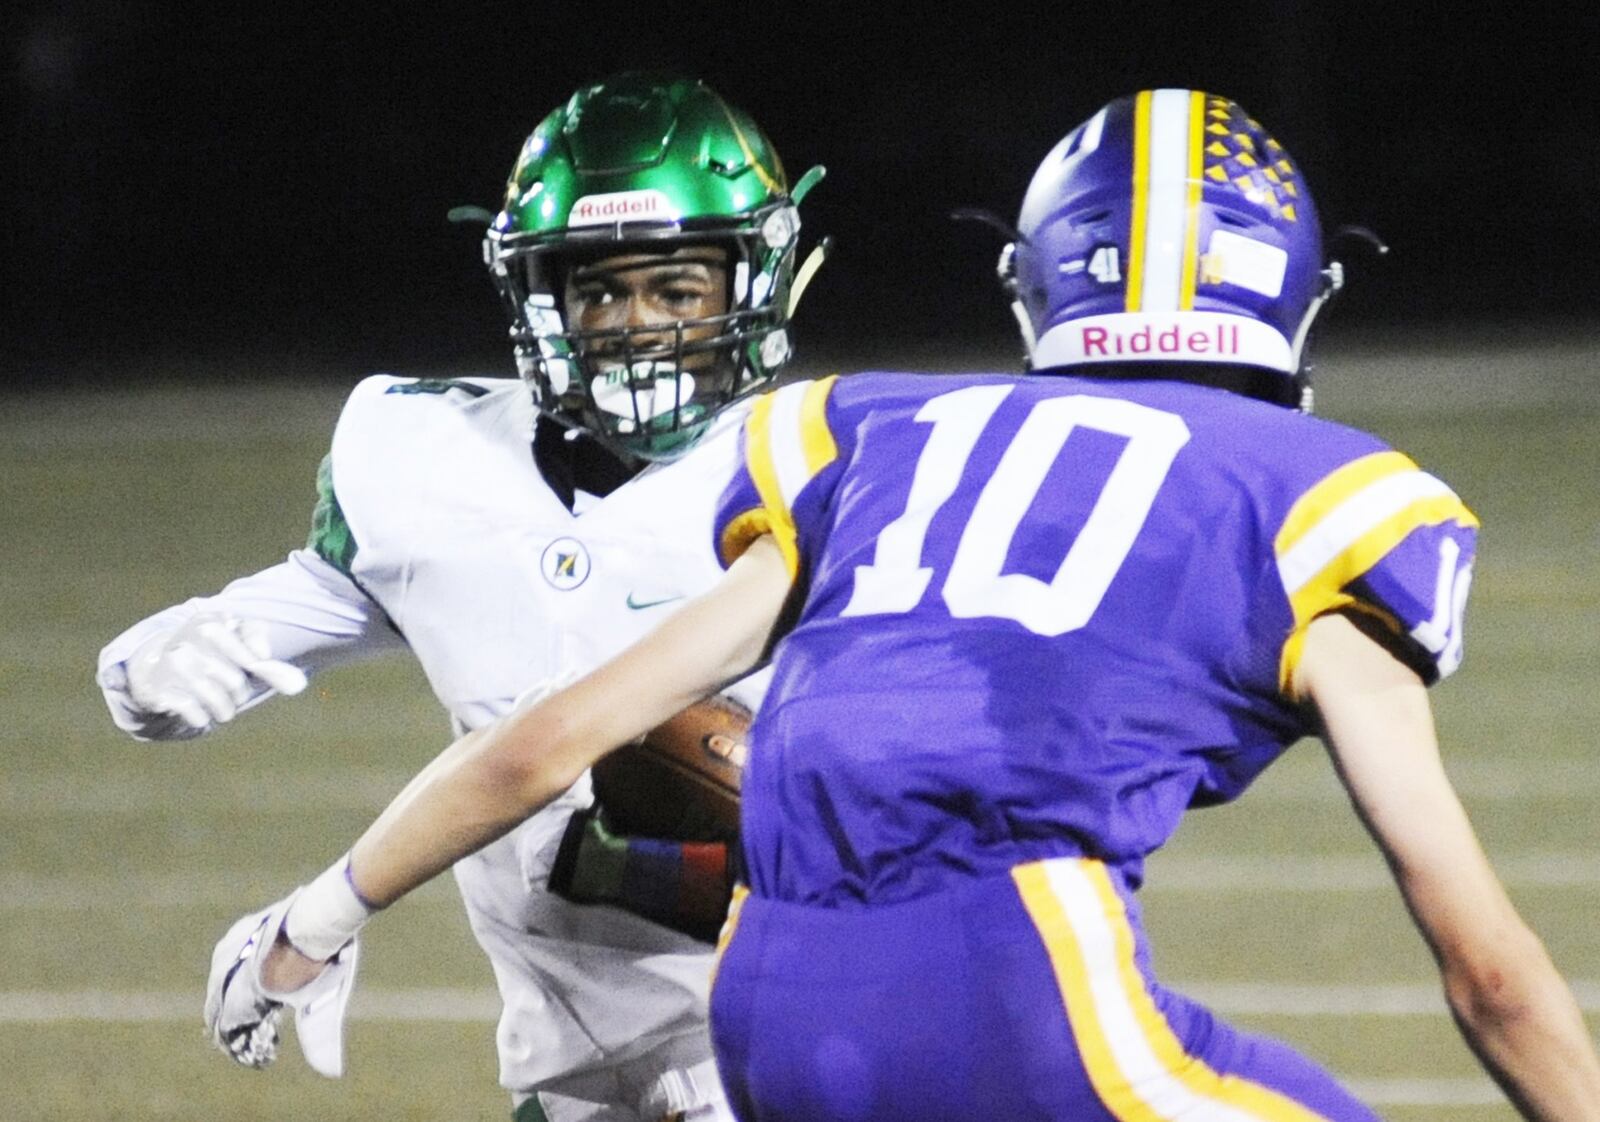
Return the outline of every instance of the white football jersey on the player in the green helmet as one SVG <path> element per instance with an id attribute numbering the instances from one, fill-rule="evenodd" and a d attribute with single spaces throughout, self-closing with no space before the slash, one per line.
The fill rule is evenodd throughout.
<path id="1" fill-rule="evenodd" d="M 536 413 L 520 381 L 368 378 L 331 451 L 333 491 L 355 543 L 339 559 L 349 579 L 296 551 L 152 616 L 101 655 L 112 714 L 138 736 L 174 735 L 170 722 L 133 711 L 122 661 L 192 611 L 226 610 L 267 623 L 274 656 L 309 671 L 381 650 L 387 616 L 454 730 L 480 727 L 526 690 L 622 650 L 717 581 L 712 509 L 734 467 L 739 416 L 725 415 L 686 456 L 603 498 L 578 491 L 568 509 L 534 461 Z M 554 427 L 547 435 L 560 439 Z M 590 800 L 584 779 L 456 866 L 504 999 L 501 1082 L 514 1092 L 658 1048 L 678 1066 L 710 1055 L 709 948 L 544 888 L 570 813 Z"/>

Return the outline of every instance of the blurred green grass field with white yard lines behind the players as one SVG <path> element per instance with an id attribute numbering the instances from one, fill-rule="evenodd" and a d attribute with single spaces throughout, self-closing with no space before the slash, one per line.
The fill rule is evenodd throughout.
<path id="1" fill-rule="evenodd" d="M 1320 411 L 1483 517 L 1467 659 L 1435 695 L 1512 895 L 1600 1024 L 1600 351 L 1350 352 Z M 902 360 L 904 362 L 904 360 Z M 909 363 L 907 363 L 909 365 Z M 306 535 L 344 387 L 102 391 L 0 410 L 0 1117 L 501 1119 L 494 997 L 448 879 L 370 930 L 350 1076 L 202 1040 L 213 940 L 331 860 L 446 738 L 405 661 L 198 743 L 110 727 L 93 664 L 166 603 Z M 1437 999 L 1320 749 L 1194 815 L 1150 864 L 1168 983 L 1302 1047 L 1392 1119 L 1510 1117 Z"/>

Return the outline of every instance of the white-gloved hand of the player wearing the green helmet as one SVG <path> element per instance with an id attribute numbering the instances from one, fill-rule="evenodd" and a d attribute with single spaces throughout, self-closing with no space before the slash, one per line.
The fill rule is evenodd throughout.
<path id="1" fill-rule="evenodd" d="M 253 682 L 254 680 L 254 682 Z M 202 611 L 147 639 L 128 659 L 128 696 L 146 712 L 165 712 L 195 730 L 232 720 L 256 682 L 299 693 L 306 674 L 272 658 L 264 627 Z"/>

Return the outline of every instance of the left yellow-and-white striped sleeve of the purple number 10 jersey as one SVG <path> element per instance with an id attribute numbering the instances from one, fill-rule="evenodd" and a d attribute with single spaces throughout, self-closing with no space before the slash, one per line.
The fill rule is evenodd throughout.
<path id="1" fill-rule="evenodd" d="M 795 507 L 824 503 L 838 442 L 829 427 L 829 395 L 837 378 L 792 383 L 755 400 L 739 435 L 739 466 L 717 503 L 712 522 L 717 559 L 726 568 L 750 543 L 773 535 L 789 563 L 802 568 Z"/>

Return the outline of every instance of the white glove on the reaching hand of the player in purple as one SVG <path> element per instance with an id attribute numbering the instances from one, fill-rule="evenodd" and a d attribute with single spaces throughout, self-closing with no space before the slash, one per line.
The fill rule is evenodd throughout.
<path id="1" fill-rule="evenodd" d="M 278 1055 L 278 1020 L 283 1007 L 294 1010 L 294 1036 L 314 1071 L 338 1079 L 344 1074 L 344 1013 L 355 989 L 360 941 L 350 940 L 328 960 L 317 978 L 286 994 L 261 981 L 261 960 L 283 928 L 290 896 L 266 911 L 245 916 L 211 952 L 211 976 L 205 989 L 206 1036 L 234 1061 L 266 1068 Z"/>

